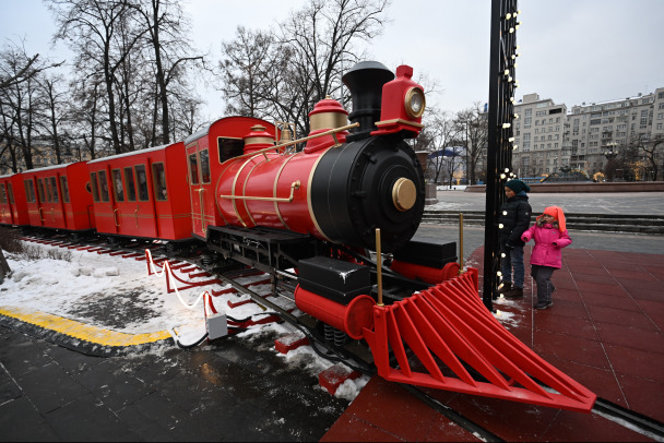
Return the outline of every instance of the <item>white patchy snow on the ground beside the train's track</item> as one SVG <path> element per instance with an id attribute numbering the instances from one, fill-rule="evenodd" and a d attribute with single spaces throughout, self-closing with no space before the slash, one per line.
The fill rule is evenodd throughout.
<path id="1" fill-rule="evenodd" d="M 161 272 L 161 266 L 156 267 L 155 274 L 149 275 L 145 261 L 63 250 L 32 242 L 25 244 L 33 250 L 39 250 L 43 256 L 71 255 L 69 260 L 27 260 L 5 253 L 12 273 L 0 285 L 0 308 L 45 312 L 128 334 L 171 331 L 177 334 L 180 344 L 189 345 L 197 343 L 205 334 L 203 292 L 212 294 L 213 290 L 220 291 L 230 287 L 212 284 L 168 294 L 166 275 Z M 246 285 L 264 278 L 263 274 L 244 277 L 238 282 Z M 205 279 L 210 277 L 198 277 L 193 282 Z M 177 286 L 182 284 L 178 283 Z M 266 296 L 271 292 L 271 285 L 254 285 L 251 290 Z M 227 303 L 229 300 L 237 303 L 248 298 L 229 294 L 212 297 L 212 300 L 217 311 L 223 310 L 234 319 L 252 316 L 253 320 L 260 320 L 264 311 L 258 304 L 246 303 L 230 308 Z M 290 303 L 295 308 L 293 302 L 283 298 L 271 297 L 270 301 L 280 307 Z M 234 339 L 254 339 L 262 333 L 285 335 L 295 331 L 286 323 L 271 323 L 251 326 Z M 163 354 L 166 346 L 153 346 L 145 351 Z M 205 346 L 205 342 L 201 346 Z M 282 357 L 297 367 L 306 363 L 304 367 L 312 375 L 318 375 L 333 364 L 319 357 L 309 346 Z M 348 380 L 339 387 L 335 395 L 353 400 L 368 381 L 367 375 Z"/>

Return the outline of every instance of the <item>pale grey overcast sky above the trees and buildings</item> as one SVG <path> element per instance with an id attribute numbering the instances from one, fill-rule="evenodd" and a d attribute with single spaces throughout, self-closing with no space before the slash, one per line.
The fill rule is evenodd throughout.
<path id="1" fill-rule="evenodd" d="M 187 0 L 192 39 L 218 59 L 238 25 L 265 29 L 307 0 Z M 517 99 L 537 93 L 566 104 L 598 103 L 664 87 L 664 0 L 520 0 Z M 40 0 L 0 0 L 0 41 L 25 37 L 28 52 L 58 60 L 52 17 Z M 391 22 L 367 48 L 390 69 L 410 64 L 438 83 L 428 96 L 458 111 L 484 104 L 489 80 L 489 0 L 393 0 Z M 218 117 L 218 93 L 203 93 L 205 115 Z"/>

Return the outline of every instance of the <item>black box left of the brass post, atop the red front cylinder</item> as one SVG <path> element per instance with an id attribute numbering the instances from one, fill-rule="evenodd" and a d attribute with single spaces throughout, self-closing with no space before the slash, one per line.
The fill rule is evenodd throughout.
<path id="1" fill-rule="evenodd" d="M 348 304 L 360 294 L 371 292 L 369 267 L 355 263 L 315 256 L 298 262 L 299 286 L 310 292 Z"/>

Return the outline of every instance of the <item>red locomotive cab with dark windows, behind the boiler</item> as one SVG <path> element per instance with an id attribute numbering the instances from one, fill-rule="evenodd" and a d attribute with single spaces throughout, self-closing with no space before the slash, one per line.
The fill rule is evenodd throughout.
<path id="1" fill-rule="evenodd" d="M 206 239 L 208 226 L 224 226 L 227 222 L 216 204 L 216 181 L 228 165 L 224 161 L 245 153 L 244 137 L 254 125 L 265 128 L 275 140 L 274 124 L 249 117 L 227 117 L 185 140 L 188 165 L 188 190 L 191 199 L 193 234 Z"/>

